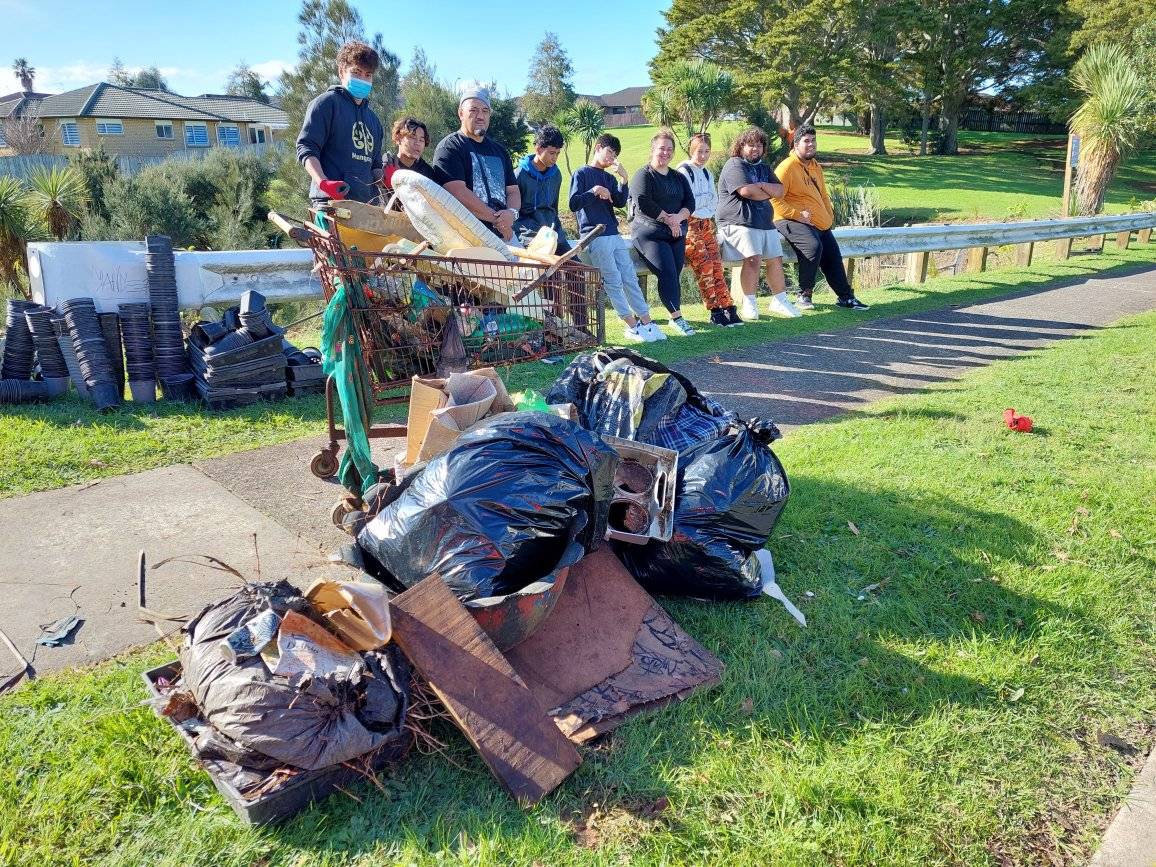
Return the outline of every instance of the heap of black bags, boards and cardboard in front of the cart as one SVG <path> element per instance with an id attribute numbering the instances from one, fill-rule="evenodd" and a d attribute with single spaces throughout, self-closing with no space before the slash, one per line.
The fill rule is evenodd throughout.
<path id="1" fill-rule="evenodd" d="M 239 815 L 291 815 L 291 780 L 379 768 L 383 744 L 400 761 L 408 696 L 534 803 L 578 746 L 720 680 L 650 593 L 768 593 L 805 623 L 765 550 L 790 491 L 773 424 L 629 351 L 577 357 L 527 403 L 490 370 L 415 379 L 405 457 L 346 516 L 333 560 L 356 575 L 250 585 L 149 673 Z"/>

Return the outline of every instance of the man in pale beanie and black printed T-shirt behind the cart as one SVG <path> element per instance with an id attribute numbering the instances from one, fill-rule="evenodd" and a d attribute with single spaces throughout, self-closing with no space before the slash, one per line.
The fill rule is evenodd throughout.
<path id="1" fill-rule="evenodd" d="M 477 82 L 458 89 L 461 127 L 438 142 L 433 168 L 442 186 L 504 240 L 513 238 L 521 207 L 510 151 L 486 133 L 490 128 L 490 91 Z"/>

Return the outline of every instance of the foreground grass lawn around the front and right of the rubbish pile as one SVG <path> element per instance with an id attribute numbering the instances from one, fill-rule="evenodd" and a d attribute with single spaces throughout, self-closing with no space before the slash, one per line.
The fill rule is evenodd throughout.
<path id="1" fill-rule="evenodd" d="M 809 627 L 668 602 L 721 686 L 528 812 L 443 726 L 446 755 L 249 830 L 141 705 L 169 651 L 25 684 L 0 698 L 0 862 L 1082 864 L 1134 773 L 1102 735 L 1153 743 L 1154 418 L 1149 313 L 790 435 L 770 547 Z"/>

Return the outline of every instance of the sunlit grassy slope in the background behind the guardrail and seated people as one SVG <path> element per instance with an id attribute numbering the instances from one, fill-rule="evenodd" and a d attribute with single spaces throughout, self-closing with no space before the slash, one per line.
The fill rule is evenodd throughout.
<path id="1" fill-rule="evenodd" d="M 742 125 L 711 129 L 721 148 Z M 646 162 L 653 126 L 612 129 L 622 140 L 622 164 L 633 172 Z M 879 194 L 884 223 L 1030 220 L 1059 216 L 1064 193 L 1062 135 L 962 132 L 959 156 L 911 156 L 899 139 L 887 140 L 888 156 L 866 155 L 867 138 L 836 128 L 818 132 L 820 160 L 829 181 L 837 175 L 851 184 L 870 184 Z M 570 147 L 571 166 L 583 162 L 580 144 Z M 677 161 L 686 158 L 677 151 Z M 563 198 L 570 176 L 562 161 Z M 1116 177 L 1105 213 L 1128 210 L 1132 201 L 1156 199 L 1156 151 L 1131 156 Z M 562 202 L 563 206 L 565 201 Z"/>

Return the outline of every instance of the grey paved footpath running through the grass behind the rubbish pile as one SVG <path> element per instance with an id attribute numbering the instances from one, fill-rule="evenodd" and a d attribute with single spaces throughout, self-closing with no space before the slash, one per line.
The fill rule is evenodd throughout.
<path id="1" fill-rule="evenodd" d="M 771 417 L 791 436 L 798 425 L 917 393 L 1153 309 L 1156 268 L 867 321 L 676 366 L 725 406 Z M 850 324 L 853 314 L 846 319 Z M 375 440 L 380 465 L 392 462 L 398 442 Z M 309 473 L 320 443 L 297 440 L 0 501 L 0 526 L 8 528 L 0 534 L 0 628 L 38 673 L 153 640 L 154 628 L 136 617 L 141 549 L 151 563 L 212 555 L 246 577 L 283 577 L 298 586 L 328 570 L 348 575 L 326 558 L 347 536 L 329 521 L 340 487 Z M 36 534 L 13 532 L 30 521 Z M 175 562 L 149 572 L 147 601 L 155 612 L 184 614 L 237 586 L 225 571 Z M 84 621 L 71 645 L 35 644 L 42 625 L 68 615 Z M 9 670 L 0 649 L 0 681 Z M 1138 784 L 1147 788 L 1121 810 L 1125 830 L 1117 828 L 1120 822 L 1110 829 L 1096 861 L 1101 867 L 1156 864 L 1154 777 L 1156 759 L 1149 758 Z M 1113 840 L 1122 843 L 1113 850 Z"/>

